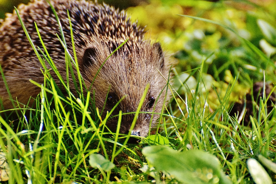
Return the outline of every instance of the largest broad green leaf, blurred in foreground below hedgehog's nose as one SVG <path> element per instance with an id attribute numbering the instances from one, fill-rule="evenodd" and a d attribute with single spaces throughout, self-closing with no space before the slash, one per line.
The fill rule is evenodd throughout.
<path id="1" fill-rule="evenodd" d="M 221 170 L 219 160 L 201 150 L 178 152 L 162 145 L 145 147 L 142 154 L 156 170 L 169 173 L 183 183 L 231 183 Z"/>

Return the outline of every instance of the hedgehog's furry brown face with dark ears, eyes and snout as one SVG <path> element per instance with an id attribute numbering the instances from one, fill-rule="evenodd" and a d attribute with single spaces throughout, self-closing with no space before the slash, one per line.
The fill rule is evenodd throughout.
<path id="1" fill-rule="evenodd" d="M 122 49 L 123 50 L 123 49 Z M 88 47 L 83 54 L 84 79 L 87 86 L 91 85 L 99 68 L 111 53 L 110 49 Z M 159 43 L 150 45 L 143 43 L 139 49 L 118 51 L 110 56 L 99 70 L 92 85 L 95 90 L 95 106 L 104 109 L 103 116 L 110 111 L 118 101 L 120 103 L 112 112 L 115 116 L 108 120 L 107 126 L 113 132 L 117 129 L 118 115 L 121 110 L 122 121 L 120 133 L 127 134 L 131 128 L 135 112 L 147 84 L 145 100 L 141 107 L 132 135 L 146 137 L 150 124 L 154 125 L 161 113 L 166 94 L 168 67 L 164 63 L 164 55 Z M 162 73 L 162 75 L 160 74 Z M 154 113 L 152 113 L 154 112 Z"/>

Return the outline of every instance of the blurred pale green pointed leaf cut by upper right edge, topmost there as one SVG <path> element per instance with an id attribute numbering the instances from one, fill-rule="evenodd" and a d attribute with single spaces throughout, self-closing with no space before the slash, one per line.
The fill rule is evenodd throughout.
<path id="1" fill-rule="evenodd" d="M 270 43 L 276 44 L 276 30 L 269 23 L 264 20 L 257 20 L 258 26 L 260 27 L 262 34 Z"/>

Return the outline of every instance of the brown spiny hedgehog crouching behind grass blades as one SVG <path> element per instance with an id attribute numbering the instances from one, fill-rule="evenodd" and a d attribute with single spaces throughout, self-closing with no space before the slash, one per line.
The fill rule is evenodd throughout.
<path id="1" fill-rule="evenodd" d="M 156 124 L 158 113 L 161 113 L 163 103 L 167 103 L 169 96 L 166 79 L 170 76 L 171 64 L 160 43 L 145 39 L 145 28 L 138 26 L 137 21 L 131 22 L 124 11 L 112 6 L 85 0 L 51 0 L 49 3 L 57 12 L 68 51 L 73 55 L 67 14 L 67 10 L 69 11 L 79 70 L 85 85 L 91 87 L 91 94 L 95 93 L 95 107 L 104 110 L 103 117 L 124 97 L 111 115 L 118 114 L 120 110 L 126 113 L 122 116 L 120 133 L 129 133 L 135 114 L 131 112 L 136 112 L 149 84 L 141 108 L 144 113 L 139 113 L 131 131 L 132 135 L 146 137 L 150 124 Z M 46 0 L 33 0 L 28 5 L 21 4 L 18 13 L 34 45 L 43 48 L 34 26 L 36 22 L 49 55 L 66 81 L 65 51 L 56 36 L 58 34 L 61 37 L 59 24 L 49 3 Z M 115 51 L 124 41 L 126 43 Z M 108 58 L 113 51 L 114 54 Z M 33 102 L 41 88 L 30 83 L 29 79 L 43 84 L 44 75 L 16 12 L 7 14 L 0 27 L 0 64 L 12 99 L 17 99 L 20 104 L 27 104 L 30 97 L 33 97 L 30 101 Z M 47 62 L 45 66 L 51 68 Z M 73 70 L 77 76 L 74 66 Z M 60 83 L 53 70 L 50 72 L 53 80 Z M 69 83 L 70 89 L 74 90 L 72 77 Z M 73 93 L 78 95 L 76 91 Z M 14 107 L 2 77 L 0 98 L 4 109 Z M 108 120 L 106 125 L 114 132 L 117 123 L 118 117 L 115 117 Z"/>

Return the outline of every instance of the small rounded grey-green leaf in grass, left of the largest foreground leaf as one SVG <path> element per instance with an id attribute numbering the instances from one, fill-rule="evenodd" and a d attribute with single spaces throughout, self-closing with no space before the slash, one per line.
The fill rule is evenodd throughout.
<path id="1" fill-rule="evenodd" d="M 104 156 L 100 154 L 91 154 L 89 155 L 89 164 L 93 168 L 101 168 L 104 171 L 110 171 L 115 167 L 113 163 L 104 158 Z"/>

